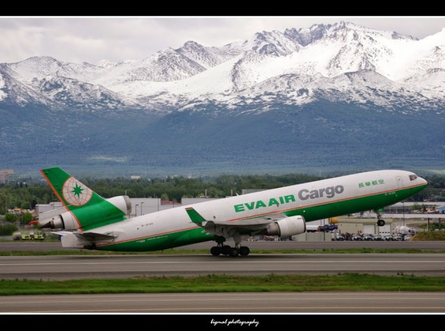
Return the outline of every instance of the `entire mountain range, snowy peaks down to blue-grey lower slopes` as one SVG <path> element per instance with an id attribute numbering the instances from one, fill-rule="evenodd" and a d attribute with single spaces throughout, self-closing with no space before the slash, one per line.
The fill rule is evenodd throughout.
<path id="1" fill-rule="evenodd" d="M 77 159 L 232 172 L 273 169 L 279 155 L 275 171 L 391 168 L 396 159 L 443 168 L 444 96 L 445 29 L 417 40 L 339 22 L 223 47 L 188 40 L 142 60 L 34 56 L 0 64 L 0 152 L 6 168 L 26 169 Z M 32 160 L 9 156 L 17 150 Z"/>

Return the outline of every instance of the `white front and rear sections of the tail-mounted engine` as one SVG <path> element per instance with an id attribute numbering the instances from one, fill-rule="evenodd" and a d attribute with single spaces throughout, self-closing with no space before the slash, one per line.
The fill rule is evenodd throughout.
<path id="1" fill-rule="evenodd" d="M 111 202 L 118 207 L 125 214 L 131 213 L 131 200 L 127 195 L 120 195 L 118 197 L 111 197 L 110 199 L 106 199 L 108 202 Z M 47 221 L 47 223 L 45 223 Z M 76 218 L 72 215 L 70 211 L 65 211 L 65 213 L 60 213 L 58 216 L 54 216 L 51 220 L 43 220 L 43 224 L 40 227 L 48 227 L 51 229 L 65 229 L 65 230 L 73 230 L 79 229 L 79 224 L 76 221 Z"/>

